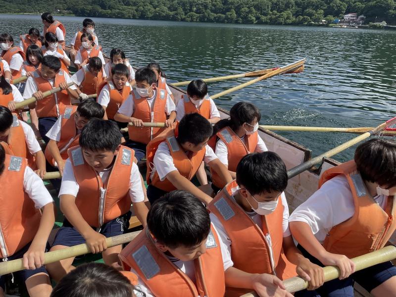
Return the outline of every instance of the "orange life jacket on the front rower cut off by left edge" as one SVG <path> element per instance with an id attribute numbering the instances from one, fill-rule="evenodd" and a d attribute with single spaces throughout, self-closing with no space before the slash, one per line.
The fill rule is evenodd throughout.
<path id="1" fill-rule="evenodd" d="M 23 189 L 27 161 L 5 155 L 4 171 L 0 175 L 0 255 L 9 257 L 32 242 L 39 230 L 41 213 Z"/>

